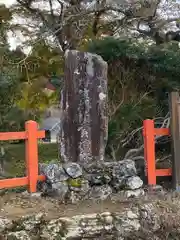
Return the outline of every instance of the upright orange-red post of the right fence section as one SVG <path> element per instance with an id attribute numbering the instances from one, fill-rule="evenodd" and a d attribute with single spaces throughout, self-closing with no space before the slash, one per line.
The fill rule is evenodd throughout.
<path id="1" fill-rule="evenodd" d="M 144 155 L 149 185 L 156 185 L 156 160 L 154 142 L 154 121 L 147 119 L 143 121 Z"/>

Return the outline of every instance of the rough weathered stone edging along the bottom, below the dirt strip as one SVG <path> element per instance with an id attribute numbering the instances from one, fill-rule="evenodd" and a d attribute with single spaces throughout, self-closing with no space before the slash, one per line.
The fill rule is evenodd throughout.
<path id="1" fill-rule="evenodd" d="M 180 236 L 177 218 L 180 208 L 176 213 L 173 209 L 174 206 L 162 207 L 154 202 L 130 204 L 113 213 L 92 213 L 53 220 L 43 214 L 25 216 L 14 220 L 15 227 L 4 229 L 0 237 L 8 240 L 160 240 L 169 236 L 168 239 L 175 240 Z M 165 213 L 167 216 L 164 216 Z"/>

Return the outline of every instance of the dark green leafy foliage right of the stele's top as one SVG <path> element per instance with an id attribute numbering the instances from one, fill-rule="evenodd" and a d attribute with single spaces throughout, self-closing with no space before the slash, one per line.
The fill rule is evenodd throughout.
<path id="1" fill-rule="evenodd" d="M 107 37 L 104 40 L 91 42 L 88 51 L 98 53 L 109 63 L 117 59 L 128 58 L 143 67 L 147 64 L 152 74 L 170 77 L 172 80 L 180 74 L 178 43 L 147 46 L 145 43 L 138 43 L 135 39 L 126 41 Z"/>

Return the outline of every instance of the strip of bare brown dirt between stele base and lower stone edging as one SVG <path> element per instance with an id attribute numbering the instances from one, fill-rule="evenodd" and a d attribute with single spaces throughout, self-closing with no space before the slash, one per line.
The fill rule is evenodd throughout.
<path id="1" fill-rule="evenodd" d="M 166 198 L 166 199 L 165 199 Z M 0 197 L 0 216 L 9 219 L 17 219 L 25 215 L 46 213 L 47 219 L 59 217 L 72 217 L 81 214 L 101 212 L 122 212 L 125 208 L 131 208 L 133 204 L 145 202 L 156 202 L 162 199 L 165 202 L 171 201 L 172 194 L 168 196 L 148 194 L 141 199 L 123 199 L 119 195 L 111 196 L 105 201 L 83 201 L 77 204 L 62 204 L 53 198 L 42 198 L 30 196 L 24 193 L 6 193 Z M 180 197 L 178 196 L 179 200 Z M 165 199 L 165 200 L 164 200 Z M 170 200 L 167 200 L 170 199 Z"/>

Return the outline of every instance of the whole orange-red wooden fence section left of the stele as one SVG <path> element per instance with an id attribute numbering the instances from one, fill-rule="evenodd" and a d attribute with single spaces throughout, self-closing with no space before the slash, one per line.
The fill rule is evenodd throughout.
<path id="1" fill-rule="evenodd" d="M 0 180 L 0 189 L 27 185 L 29 192 L 36 192 L 37 181 L 45 180 L 44 176 L 38 175 L 38 139 L 44 137 L 45 131 L 38 131 L 38 125 L 34 121 L 27 121 L 23 132 L 0 133 L 0 141 L 25 140 L 27 170 L 25 177 Z"/>

